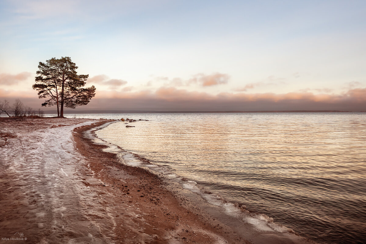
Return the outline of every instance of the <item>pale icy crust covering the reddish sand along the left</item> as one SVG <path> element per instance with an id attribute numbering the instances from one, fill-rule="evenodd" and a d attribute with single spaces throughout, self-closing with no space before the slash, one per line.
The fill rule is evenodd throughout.
<path id="1" fill-rule="evenodd" d="M 53 120 L 43 123 L 49 121 Z M 105 235 L 115 234 L 108 210 L 102 220 L 93 217 L 98 214 L 100 196 L 78 176 L 78 170 L 87 170 L 87 160 L 75 150 L 72 139 L 75 127 L 95 121 L 73 125 L 68 120 L 54 121 L 63 126 L 8 129 L 16 137 L 0 147 L 4 189 L 0 214 L 6 218 L 0 223 L 1 234 L 22 231 L 34 243 L 90 243 L 92 239 L 113 243 Z"/>

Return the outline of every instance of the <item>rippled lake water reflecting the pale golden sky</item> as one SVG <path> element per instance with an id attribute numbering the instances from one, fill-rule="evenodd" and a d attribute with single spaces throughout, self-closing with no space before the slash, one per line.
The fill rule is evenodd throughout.
<path id="1" fill-rule="evenodd" d="M 150 120 L 97 132 L 126 151 L 319 243 L 366 240 L 365 113 L 111 116 Z"/>

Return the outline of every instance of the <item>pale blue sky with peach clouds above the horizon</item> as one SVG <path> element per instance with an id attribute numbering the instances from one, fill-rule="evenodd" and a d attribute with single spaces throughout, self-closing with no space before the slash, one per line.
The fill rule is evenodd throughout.
<path id="1" fill-rule="evenodd" d="M 366 1 L 0 0 L 0 100 L 41 108 L 68 56 L 76 110 L 366 111 Z M 55 110 L 55 107 L 43 107 Z"/>

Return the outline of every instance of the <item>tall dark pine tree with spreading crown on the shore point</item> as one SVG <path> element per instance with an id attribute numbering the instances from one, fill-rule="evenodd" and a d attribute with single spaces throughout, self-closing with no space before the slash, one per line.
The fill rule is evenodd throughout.
<path id="1" fill-rule="evenodd" d="M 38 64 L 36 84 L 39 98 L 46 98 L 42 106 L 57 106 L 57 117 L 64 118 L 64 106 L 75 108 L 86 105 L 95 96 L 95 87 L 84 88 L 89 75 L 78 75 L 69 57 L 52 58 Z"/>

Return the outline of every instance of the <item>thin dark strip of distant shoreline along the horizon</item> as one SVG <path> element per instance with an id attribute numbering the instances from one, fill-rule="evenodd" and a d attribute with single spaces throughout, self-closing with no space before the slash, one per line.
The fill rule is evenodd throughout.
<path id="1" fill-rule="evenodd" d="M 65 114 L 193 114 L 193 113 L 314 113 L 314 112 L 354 112 L 341 110 L 268 110 L 268 111 L 147 111 L 147 110 L 65 110 Z M 357 111 L 356 111 L 357 112 Z M 366 111 L 359 111 L 366 112 Z M 57 111 L 44 111 L 45 114 L 57 114 Z"/>

